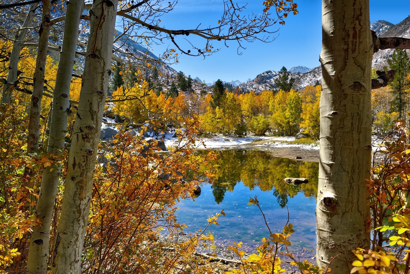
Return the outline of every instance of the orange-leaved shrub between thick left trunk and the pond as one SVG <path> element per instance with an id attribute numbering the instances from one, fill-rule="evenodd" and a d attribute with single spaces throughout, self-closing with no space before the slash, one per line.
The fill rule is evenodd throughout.
<path id="1" fill-rule="evenodd" d="M 186 131 L 178 134 L 178 144 L 169 148 L 169 154 L 158 154 L 156 141 L 147 143 L 127 131 L 121 131 L 112 147 L 101 151 L 100 157 L 111 163 L 96 172 L 84 272 L 172 273 L 177 265 L 191 271 L 200 268 L 190 265 L 198 260 L 194 249 L 212 236 L 192 234 L 182 243 L 159 238 L 162 230 L 172 238 L 186 227 L 176 219 L 177 201 L 190 198 L 200 182 L 213 176 L 208 161 L 214 154 L 193 154 L 198 120 L 188 118 L 183 123 Z M 201 165 L 208 168 L 200 171 Z"/>

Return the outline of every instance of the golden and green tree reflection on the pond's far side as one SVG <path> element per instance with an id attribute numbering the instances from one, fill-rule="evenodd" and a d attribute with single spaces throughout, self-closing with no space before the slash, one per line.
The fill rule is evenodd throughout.
<path id="1" fill-rule="evenodd" d="M 292 198 L 301 191 L 309 198 L 317 195 L 319 164 L 314 162 L 271 157 L 260 150 L 222 150 L 216 171 L 216 180 L 212 185 L 216 203 L 221 203 L 225 192 L 233 191 L 241 180 L 249 189 L 273 189 L 273 195 L 281 207 L 285 207 L 288 197 Z M 286 177 L 305 177 L 309 183 L 294 186 L 283 180 Z"/>

